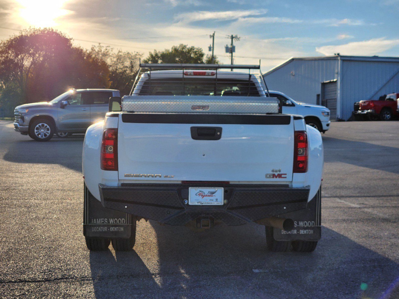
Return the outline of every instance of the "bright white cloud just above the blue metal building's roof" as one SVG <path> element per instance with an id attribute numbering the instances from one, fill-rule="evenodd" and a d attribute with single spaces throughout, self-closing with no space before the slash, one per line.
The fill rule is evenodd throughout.
<path id="1" fill-rule="evenodd" d="M 343 45 L 316 47 L 324 55 L 340 53 L 342 55 L 375 55 L 399 45 L 399 39 L 373 38 L 367 41 L 354 41 Z"/>

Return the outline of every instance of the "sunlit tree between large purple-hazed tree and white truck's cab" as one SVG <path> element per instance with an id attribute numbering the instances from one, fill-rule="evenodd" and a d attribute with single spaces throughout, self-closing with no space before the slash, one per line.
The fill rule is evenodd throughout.
<path id="1" fill-rule="evenodd" d="M 137 75 L 138 61 L 142 54 L 122 50 L 115 52 L 111 47 L 102 45 L 91 47 L 90 54 L 108 64 L 111 88 L 119 89 L 121 95 L 128 94 Z"/>

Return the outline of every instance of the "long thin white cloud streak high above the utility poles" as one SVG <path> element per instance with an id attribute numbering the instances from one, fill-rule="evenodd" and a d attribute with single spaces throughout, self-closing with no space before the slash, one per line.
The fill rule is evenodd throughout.
<path id="1" fill-rule="evenodd" d="M 175 16 L 176 21 L 190 23 L 196 21 L 206 21 L 206 20 L 218 20 L 218 21 L 228 21 L 237 20 L 239 18 L 244 18 L 248 16 L 259 16 L 266 14 L 266 9 L 254 9 L 254 10 L 226 10 L 219 12 L 212 11 L 199 11 L 199 12 L 185 12 L 183 14 L 178 14 Z"/>

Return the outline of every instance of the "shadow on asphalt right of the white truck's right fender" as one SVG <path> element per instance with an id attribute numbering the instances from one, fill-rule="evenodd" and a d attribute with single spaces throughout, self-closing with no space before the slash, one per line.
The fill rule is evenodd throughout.
<path id="1" fill-rule="evenodd" d="M 399 148 L 325 136 L 323 136 L 323 144 L 324 162 L 342 162 L 399 173 L 399 163 L 397 162 Z"/>

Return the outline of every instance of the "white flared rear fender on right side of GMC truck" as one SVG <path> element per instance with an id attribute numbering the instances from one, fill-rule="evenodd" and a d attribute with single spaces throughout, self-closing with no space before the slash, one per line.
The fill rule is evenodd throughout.
<path id="1" fill-rule="evenodd" d="M 324 150 L 323 139 L 320 132 L 306 125 L 308 135 L 308 172 L 306 184 L 310 185 L 309 199 L 310 201 L 317 193 L 322 182 Z"/>

